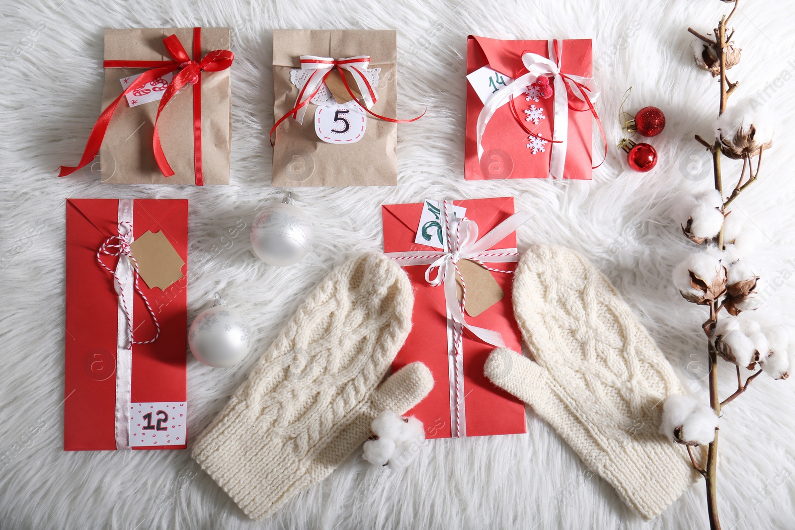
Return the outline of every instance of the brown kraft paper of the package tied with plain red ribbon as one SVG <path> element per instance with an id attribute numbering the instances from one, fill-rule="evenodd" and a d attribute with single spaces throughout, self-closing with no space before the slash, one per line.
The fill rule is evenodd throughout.
<path id="1" fill-rule="evenodd" d="M 193 56 L 193 28 L 106 29 L 105 60 L 172 60 L 163 39 L 176 35 Z M 230 48 L 229 28 L 202 28 L 201 53 Z M 122 93 L 122 79 L 143 68 L 106 68 L 104 109 Z M 202 173 L 204 184 L 229 184 L 231 153 L 231 68 L 201 75 Z M 176 73 L 176 72 L 175 72 Z M 118 103 L 99 157 L 102 181 L 111 184 L 196 184 L 193 155 L 193 86 L 186 85 L 161 113 L 157 130 L 174 175 L 157 168 L 152 133 L 158 102 L 130 108 Z"/>

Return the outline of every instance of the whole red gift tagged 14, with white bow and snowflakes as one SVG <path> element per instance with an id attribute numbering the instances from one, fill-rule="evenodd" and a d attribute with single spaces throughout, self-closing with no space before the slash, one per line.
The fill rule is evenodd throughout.
<path id="1" fill-rule="evenodd" d="M 602 131 L 593 107 L 599 88 L 591 79 L 591 41 L 469 36 L 467 76 L 484 67 L 495 72 L 467 81 L 464 177 L 591 180 L 594 118 Z M 547 97 L 539 94 L 541 77 L 549 79 Z"/>

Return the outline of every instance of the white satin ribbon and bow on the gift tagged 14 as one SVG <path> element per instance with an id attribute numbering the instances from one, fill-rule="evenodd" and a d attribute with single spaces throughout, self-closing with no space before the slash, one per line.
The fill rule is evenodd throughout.
<path id="1" fill-rule="evenodd" d="M 557 50 L 556 50 L 557 44 Z M 515 95 L 521 94 L 525 88 L 541 75 L 548 75 L 553 78 L 555 92 L 553 106 L 553 143 L 549 153 L 549 176 L 557 179 L 563 178 L 564 165 L 566 163 L 566 140 L 568 138 L 568 93 L 566 87 L 572 89 L 572 94 L 576 98 L 586 101 L 586 97 L 576 83 L 584 85 L 588 90 L 588 98 L 591 102 L 599 99 L 599 86 L 591 77 L 582 75 L 572 75 L 560 72 L 560 57 L 563 56 L 563 41 L 549 41 L 549 58 L 538 55 L 537 53 L 526 52 L 522 54 L 522 64 L 527 68 L 527 73 L 514 79 L 507 87 L 495 93 L 491 99 L 483 105 L 478 116 L 477 141 L 478 141 L 478 160 L 483 157 L 483 133 L 486 126 L 497 109 Z M 576 83 L 574 83 L 576 81 Z"/>

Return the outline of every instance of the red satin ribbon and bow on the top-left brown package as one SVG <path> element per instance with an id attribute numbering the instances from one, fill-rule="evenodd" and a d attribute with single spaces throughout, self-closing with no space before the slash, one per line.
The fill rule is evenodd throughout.
<path id="1" fill-rule="evenodd" d="M 171 84 L 165 89 L 163 98 L 160 100 L 160 105 L 157 107 L 157 116 L 154 122 L 154 132 L 152 137 L 152 149 L 154 152 L 157 167 L 163 173 L 163 176 L 172 176 L 173 169 L 166 160 L 163 147 L 160 142 L 160 134 L 157 132 L 157 122 L 160 119 L 160 114 L 169 101 L 180 91 L 182 87 L 190 83 L 193 85 L 193 153 L 194 153 L 194 168 L 196 173 L 196 185 L 201 186 L 204 184 L 204 176 L 202 175 L 202 160 L 201 160 L 201 74 L 202 72 L 220 72 L 231 67 L 232 61 L 235 60 L 235 54 L 229 50 L 213 50 L 207 53 L 206 56 L 201 56 L 201 28 L 193 28 L 193 60 L 188 56 L 184 46 L 176 35 L 170 35 L 163 39 L 166 50 L 173 60 L 106 60 L 103 64 L 104 68 L 151 68 L 142 73 L 138 79 L 135 79 L 130 86 L 126 87 L 118 98 L 108 105 L 94 124 L 91 129 L 91 134 L 88 136 L 88 142 L 83 157 L 80 158 L 80 163 L 74 167 L 61 166 L 58 176 L 71 175 L 84 165 L 89 164 L 94 157 L 99 153 L 99 146 L 107 133 L 107 128 L 111 124 L 111 118 L 116 111 L 116 107 L 121 99 L 129 92 L 135 91 L 143 87 L 146 83 L 160 78 L 169 72 L 180 70 L 179 73 L 174 75 Z"/>

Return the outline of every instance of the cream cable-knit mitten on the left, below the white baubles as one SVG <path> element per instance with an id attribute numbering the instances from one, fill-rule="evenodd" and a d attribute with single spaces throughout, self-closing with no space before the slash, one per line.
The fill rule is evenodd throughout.
<path id="1" fill-rule="evenodd" d="M 382 253 L 339 266 L 307 296 L 193 448 L 246 515 L 273 513 L 351 455 L 379 412 L 403 414 L 428 395 L 421 362 L 378 385 L 412 307 L 409 278 Z"/>

